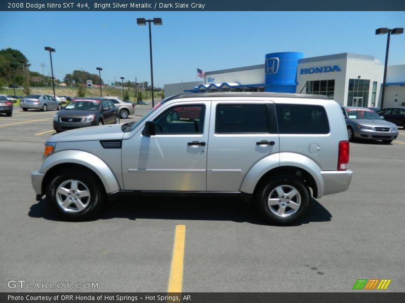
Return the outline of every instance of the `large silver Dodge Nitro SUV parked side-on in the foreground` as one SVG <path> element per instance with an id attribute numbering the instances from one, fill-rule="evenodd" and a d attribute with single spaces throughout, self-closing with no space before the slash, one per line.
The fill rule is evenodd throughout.
<path id="1" fill-rule="evenodd" d="M 319 95 L 176 95 L 138 122 L 53 135 L 44 158 L 31 173 L 36 198 L 68 220 L 120 195 L 226 195 L 288 225 L 311 195 L 345 191 L 352 177 L 340 106 Z"/>

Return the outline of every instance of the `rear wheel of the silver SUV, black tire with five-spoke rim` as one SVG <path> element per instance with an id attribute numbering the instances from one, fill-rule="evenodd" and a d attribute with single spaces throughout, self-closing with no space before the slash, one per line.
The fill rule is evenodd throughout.
<path id="1" fill-rule="evenodd" d="M 283 192 L 289 194 L 293 189 L 298 191 L 291 198 L 289 196 L 278 196 L 276 188 L 282 188 Z M 270 195 L 271 194 L 271 195 Z M 275 194 L 275 195 L 274 195 Z M 269 206 L 268 200 L 273 197 L 277 205 Z M 277 175 L 263 182 L 256 195 L 256 205 L 260 215 L 271 224 L 291 225 L 300 220 L 308 211 L 310 202 L 310 191 L 304 181 L 295 175 Z M 294 210 L 290 206 L 297 205 Z M 285 210 L 285 217 L 277 215 L 279 209 Z"/>

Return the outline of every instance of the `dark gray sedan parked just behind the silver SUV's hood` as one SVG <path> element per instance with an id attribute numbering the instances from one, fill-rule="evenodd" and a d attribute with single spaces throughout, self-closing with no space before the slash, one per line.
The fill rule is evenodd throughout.
<path id="1" fill-rule="evenodd" d="M 75 98 L 54 115 L 56 132 L 103 124 L 119 124 L 118 109 L 103 97 Z"/>

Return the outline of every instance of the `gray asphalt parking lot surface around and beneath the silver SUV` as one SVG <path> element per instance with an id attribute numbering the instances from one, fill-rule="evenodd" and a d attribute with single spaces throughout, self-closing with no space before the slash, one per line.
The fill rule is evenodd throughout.
<path id="1" fill-rule="evenodd" d="M 266 225 L 233 199 L 163 197 L 121 198 L 72 223 L 35 201 L 30 181 L 55 113 L 0 115 L 0 291 L 165 292 L 177 226 L 184 292 L 350 292 L 357 279 L 405 290 L 405 130 L 391 144 L 351 143 L 349 189 L 313 199 L 295 226 Z M 9 288 L 10 280 L 98 288 Z"/>

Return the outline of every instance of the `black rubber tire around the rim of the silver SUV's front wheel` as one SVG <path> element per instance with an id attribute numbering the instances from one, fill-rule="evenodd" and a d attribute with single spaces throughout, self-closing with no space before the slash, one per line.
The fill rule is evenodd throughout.
<path id="1" fill-rule="evenodd" d="M 54 212 L 61 218 L 69 221 L 81 221 L 87 220 L 94 217 L 103 207 L 106 201 L 106 195 L 104 192 L 103 184 L 94 177 L 88 171 L 70 169 L 62 170 L 50 179 L 50 184 L 47 184 L 46 196 L 47 201 L 54 210 Z M 72 208 L 73 212 L 65 211 L 62 206 L 58 203 L 57 189 L 60 185 L 69 180 L 76 180 L 85 184 L 90 192 L 90 197 L 88 200 L 84 200 L 86 208 L 81 211 L 74 210 L 74 205 L 71 204 L 69 207 Z M 65 196 L 68 197 L 67 195 Z"/>

